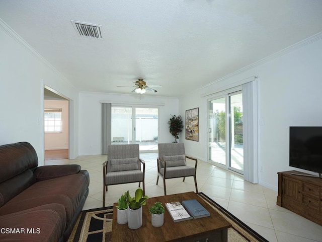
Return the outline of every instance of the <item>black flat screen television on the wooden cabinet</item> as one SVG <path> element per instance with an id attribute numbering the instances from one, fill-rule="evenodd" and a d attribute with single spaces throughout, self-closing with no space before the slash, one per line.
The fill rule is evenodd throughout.
<path id="1" fill-rule="evenodd" d="M 322 178 L 322 127 L 290 127 L 289 165 Z"/>

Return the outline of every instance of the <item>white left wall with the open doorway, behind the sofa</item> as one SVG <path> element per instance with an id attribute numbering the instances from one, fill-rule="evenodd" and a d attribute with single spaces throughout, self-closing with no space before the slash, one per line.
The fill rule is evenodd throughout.
<path id="1" fill-rule="evenodd" d="M 43 165 L 44 85 L 74 100 L 78 108 L 77 91 L 1 19 L 0 52 L 0 145 L 27 141 Z M 74 115 L 76 119 L 78 112 Z M 78 141 L 78 132 L 74 135 Z"/>

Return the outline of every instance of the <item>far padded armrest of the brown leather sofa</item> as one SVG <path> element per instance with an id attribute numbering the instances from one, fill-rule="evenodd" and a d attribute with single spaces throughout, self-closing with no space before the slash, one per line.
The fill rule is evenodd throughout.
<path id="1" fill-rule="evenodd" d="M 81 170 L 80 165 L 45 165 L 38 166 L 34 171 L 37 181 L 47 180 L 55 177 L 76 174 Z"/>

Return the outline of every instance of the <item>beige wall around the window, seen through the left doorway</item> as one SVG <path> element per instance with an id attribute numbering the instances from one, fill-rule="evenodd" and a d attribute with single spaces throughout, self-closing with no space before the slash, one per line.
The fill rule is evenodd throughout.
<path id="1" fill-rule="evenodd" d="M 45 150 L 68 149 L 68 101 L 67 100 L 45 100 L 45 108 L 61 108 L 61 132 L 45 133 Z"/>

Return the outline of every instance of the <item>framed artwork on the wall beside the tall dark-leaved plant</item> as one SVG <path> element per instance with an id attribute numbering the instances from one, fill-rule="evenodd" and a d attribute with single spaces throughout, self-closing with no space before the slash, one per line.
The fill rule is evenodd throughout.
<path id="1" fill-rule="evenodd" d="M 199 141 L 199 107 L 186 110 L 186 140 Z"/>

